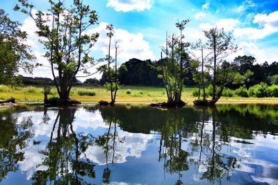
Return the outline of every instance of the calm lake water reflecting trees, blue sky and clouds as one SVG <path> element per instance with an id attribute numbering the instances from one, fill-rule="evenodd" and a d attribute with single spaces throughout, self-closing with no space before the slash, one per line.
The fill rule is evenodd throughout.
<path id="1" fill-rule="evenodd" d="M 0 184 L 278 184 L 278 107 L 1 111 Z"/>

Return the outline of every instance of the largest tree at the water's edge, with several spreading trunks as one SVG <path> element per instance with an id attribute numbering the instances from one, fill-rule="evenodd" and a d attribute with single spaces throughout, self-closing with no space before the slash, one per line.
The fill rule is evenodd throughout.
<path id="1" fill-rule="evenodd" d="M 30 16 L 38 28 L 36 33 L 46 49 L 44 56 L 50 62 L 60 103 L 74 103 L 70 100 L 74 78 L 79 71 L 88 72 L 82 68 L 85 64 L 93 64 L 89 52 L 99 34 L 85 33 L 85 30 L 97 23 L 97 12 L 83 5 L 82 0 L 74 0 L 70 8 L 64 1 L 49 0 L 49 10 L 39 10 L 34 15 L 31 3 L 27 0 L 19 0 L 19 3 L 22 7 L 16 5 L 15 10 Z M 55 78 L 55 70 L 58 71 L 58 79 Z"/>

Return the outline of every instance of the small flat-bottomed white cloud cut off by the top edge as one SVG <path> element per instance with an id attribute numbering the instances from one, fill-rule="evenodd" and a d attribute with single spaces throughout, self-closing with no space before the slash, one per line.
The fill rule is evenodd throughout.
<path id="1" fill-rule="evenodd" d="M 149 10 L 152 4 L 151 0 L 108 0 L 106 6 L 111 6 L 116 11 L 129 12 Z"/>

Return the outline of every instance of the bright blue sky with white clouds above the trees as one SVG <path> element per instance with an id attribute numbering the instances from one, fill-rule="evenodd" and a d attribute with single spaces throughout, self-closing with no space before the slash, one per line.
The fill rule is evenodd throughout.
<path id="1" fill-rule="evenodd" d="M 72 1 L 65 0 L 65 3 L 70 6 Z M 49 8 L 48 0 L 29 2 L 36 10 L 46 11 Z M 31 46 L 37 62 L 43 64 L 43 67 L 33 71 L 33 76 L 52 78 L 47 67 L 49 62 L 43 57 L 43 46 L 34 33 L 35 24 L 30 17 L 13 10 L 16 3 L 16 0 L 0 0 L 0 8 L 8 12 L 11 19 L 19 21 L 22 30 L 28 33 L 26 44 Z M 119 42 L 121 53 L 118 61 L 122 63 L 131 58 L 158 60 L 166 31 L 168 34 L 178 33 L 175 23 L 190 19 L 183 31 L 187 42 L 205 40 L 202 31 L 217 26 L 227 32 L 233 31 L 239 46 L 238 52 L 229 56 L 228 60 L 238 55 L 252 55 L 259 64 L 278 61 L 278 0 L 83 0 L 83 3 L 96 10 L 99 16 L 98 24 L 88 28 L 88 33 L 100 33 L 90 52 L 96 59 L 107 54 L 107 24 L 113 24 L 115 28 L 112 43 Z M 94 72 L 95 69 L 91 70 Z M 92 77 L 100 78 L 101 75 L 97 73 L 88 78 Z"/>

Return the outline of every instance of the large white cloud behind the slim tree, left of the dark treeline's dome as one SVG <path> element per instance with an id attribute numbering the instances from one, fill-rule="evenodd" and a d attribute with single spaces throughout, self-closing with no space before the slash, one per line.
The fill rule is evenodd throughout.
<path id="1" fill-rule="evenodd" d="M 108 42 L 109 39 L 106 36 L 107 30 L 106 26 L 108 23 L 101 22 L 97 28 L 89 30 L 89 33 L 99 33 L 98 42 L 93 47 L 93 50 L 100 50 L 104 55 L 107 54 Z M 142 33 L 129 33 L 127 30 L 121 28 L 115 28 L 115 33 L 112 37 L 112 44 L 118 42 L 120 46 L 120 55 L 119 59 L 127 61 L 131 58 L 138 58 L 140 60 L 155 60 L 154 53 L 151 51 L 149 42 L 144 39 Z M 115 53 L 115 50 L 112 49 L 112 53 Z"/>

